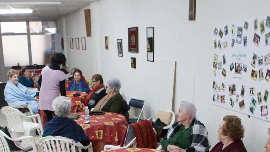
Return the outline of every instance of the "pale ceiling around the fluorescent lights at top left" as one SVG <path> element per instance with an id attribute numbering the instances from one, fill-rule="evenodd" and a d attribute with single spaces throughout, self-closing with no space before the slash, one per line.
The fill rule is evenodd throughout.
<path id="1" fill-rule="evenodd" d="M 12 7 L 33 10 L 30 14 L 0 14 L 0 21 L 53 21 L 96 1 L 100 0 L 0 0 L 0 9 Z M 37 4 L 38 2 L 61 2 L 61 4 Z"/>

